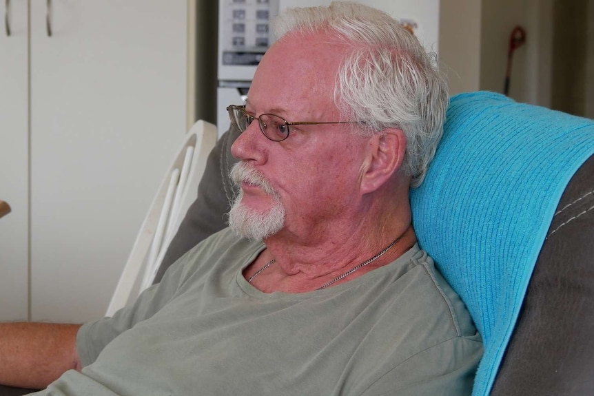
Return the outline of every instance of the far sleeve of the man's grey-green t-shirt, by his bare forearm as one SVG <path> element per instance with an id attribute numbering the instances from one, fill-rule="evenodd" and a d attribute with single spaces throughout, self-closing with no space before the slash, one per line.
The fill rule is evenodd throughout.
<path id="1" fill-rule="evenodd" d="M 112 317 L 83 324 L 76 335 L 76 351 L 83 367 L 94 362 L 115 337 L 152 317 L 174 297 L 186 275 L 188 253 L 167 270 L 161 282 L 143 291 L 134 304 L 120 309 Z"/>

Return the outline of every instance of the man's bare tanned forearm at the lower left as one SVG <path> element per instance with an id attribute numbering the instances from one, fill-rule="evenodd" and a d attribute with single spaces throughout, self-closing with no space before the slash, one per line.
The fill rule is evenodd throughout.
<path id="1" fill-rule="evenodd" d="M 80 324 L 0 324 L 0 384 L 46 388 L 62 373 L 80 370 L 76 333 Z"/>

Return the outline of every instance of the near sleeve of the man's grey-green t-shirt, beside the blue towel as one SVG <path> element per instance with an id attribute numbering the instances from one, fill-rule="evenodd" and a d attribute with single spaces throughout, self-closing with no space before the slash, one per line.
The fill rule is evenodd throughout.
<path id="1" fill-rule="evenodd" d="M 409 357 L 378 378 L 362 395 L 471 395 L 481 357 L 480 335 L 454 337 Z"/>

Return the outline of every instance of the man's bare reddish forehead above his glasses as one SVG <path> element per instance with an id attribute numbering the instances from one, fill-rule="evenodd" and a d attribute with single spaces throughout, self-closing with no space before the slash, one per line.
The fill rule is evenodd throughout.
<path id="1" fill-rule="evenodd" d="M 249 106 L 256 112 L 284 110 L 285 116 L 337 116 L 334 87 L 345 49 L 325 33 L 283 37 L 258 65 Z"/>

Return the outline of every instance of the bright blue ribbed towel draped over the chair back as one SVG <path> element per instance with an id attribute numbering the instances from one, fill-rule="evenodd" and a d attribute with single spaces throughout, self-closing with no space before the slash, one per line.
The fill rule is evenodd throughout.
<path id="1" fill-rule="evenodd" d="M 593 153 L 592 120 L 492 92 L 451 98 L 442 143 L 411 205 L 420 246 L 483 338 L 473 395 L 493 386 L 557 203 Z"/>

